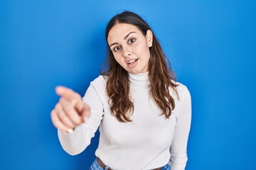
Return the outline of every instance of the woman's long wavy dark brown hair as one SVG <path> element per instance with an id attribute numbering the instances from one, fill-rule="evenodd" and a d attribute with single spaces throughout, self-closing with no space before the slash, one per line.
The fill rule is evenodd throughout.
<path id="1" fill-rule="evenodd" d="M 136 13 L 124 11 L 114 16 L 107 24 L 105 30 L 106 40 L 110 29 L 117 23 L 129 23 L 137 26 L 143 35 L 146 35 L 146 30 L 151 30 L 149 25 Z M 174 83 L 176 82 L 176 76 L 154 33 L 152 47 L 149 50 L 150 93 L 157 106 L 163 111 L 161 115 L 169 118 L 171 111 L 175 108 L 174 98 L 170 95 L 170 90 L 173 90 L 178 97 L 176 89 L 178 85 Z M 130 116 L 134 112 L 134 104 L 130 98 L 128 72 L 114 59 L 109 45 L 107 45 L 106 57 L 105 64 L 108 65 L 108 68 L 106 71 L 102 71 L 102 75 L 107 76 L 106 91 L 109 96 L 110 111 L 120 122 L 131 122 Z M 168 62 L 169 67 L 166 62 Z"/>

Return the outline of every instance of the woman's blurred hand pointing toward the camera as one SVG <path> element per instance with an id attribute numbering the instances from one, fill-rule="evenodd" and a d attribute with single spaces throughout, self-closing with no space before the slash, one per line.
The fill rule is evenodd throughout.
<path id="1" fill-rule="evenodd" d="M 60 100 L 50 112 L 53 125 L 63 132 L 73 132 L 90 116 L 90 107 L 82 101 L 78 93 L 71 89 L 57 86 L 55 91 L 60 96 Z"/>

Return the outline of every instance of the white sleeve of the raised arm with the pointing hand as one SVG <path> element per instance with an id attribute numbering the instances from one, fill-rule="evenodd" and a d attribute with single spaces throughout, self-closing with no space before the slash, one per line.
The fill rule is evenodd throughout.
<path id="1" fill-rule="evenodd" d="M 99 89 L 90 84 L 82 100 L 90 106 L 91 115 L 85 123 L 82 123 L 74 132 L 68 134 L 58 130 L 60 144 L 68 154 L 80 154 L 88 145 L 100 125 L 104 114 Z"/>

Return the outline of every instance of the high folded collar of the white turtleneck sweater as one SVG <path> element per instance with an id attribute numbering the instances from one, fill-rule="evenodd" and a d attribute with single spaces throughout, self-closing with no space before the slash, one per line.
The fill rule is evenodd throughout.
<path id="1" fill-rule="evenodd" d="M 149 72 L 140 73 L 140 74 L 129 73 L 129 81 L 131 86 L 135 86 L 143 89 L 150 88 Z"/>

